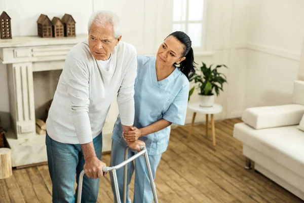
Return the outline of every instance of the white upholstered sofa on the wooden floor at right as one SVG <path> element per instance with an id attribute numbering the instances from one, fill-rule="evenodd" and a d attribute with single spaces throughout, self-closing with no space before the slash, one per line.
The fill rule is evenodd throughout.
<path id="1" fill-rule="evenodd" d="M 293 104 L 248 108 L 233 136 L 243 143 L 246 167 L 304 200 L 304 81 L 294 81 Z"/>

